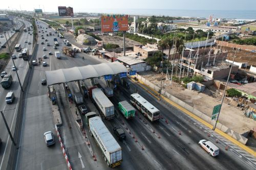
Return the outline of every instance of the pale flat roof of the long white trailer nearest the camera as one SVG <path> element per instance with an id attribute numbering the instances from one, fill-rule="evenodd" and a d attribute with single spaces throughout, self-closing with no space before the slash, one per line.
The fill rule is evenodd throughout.
<path id="1" fill-rule="evenodd" d="M 112 136 L 108 128 L 104 125 L 99 116 L 95 116 L 89 119 L 90 124 L 93 126 L 95 131 L 97 131 L 99 138 L 103 142 L 106 150 L 109 152 L 115 152 L 121 150 L 120 145 L 117 143 L 116 139 Z"/>

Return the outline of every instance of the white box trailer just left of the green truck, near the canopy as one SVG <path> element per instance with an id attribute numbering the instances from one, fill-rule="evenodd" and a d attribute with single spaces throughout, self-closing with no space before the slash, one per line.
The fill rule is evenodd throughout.
<path id="1" fill-rule="evenodd" d="M 92 99 L 93 102 L 96 103 L 98 108 L 101 110 L 101 114 L 105 119 L 114 118 L 114 105 L 99 88 L 92 89 Z"/>

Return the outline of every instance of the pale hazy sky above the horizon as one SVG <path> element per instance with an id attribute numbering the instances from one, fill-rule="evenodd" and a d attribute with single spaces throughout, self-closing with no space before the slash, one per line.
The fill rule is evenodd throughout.
<path id="1" fill-rule="evenodd" d="M 0 8 L 20 10 L 21 7 L 22 10 L 32 11 L 40 7 L 45 12 L 57 12 L 58 6 L 73 7 L 74 12 L 87 12 L 87 9 L 90 12 L 93 9 L 255 10 L 256 0 L 3 0 Z"/>

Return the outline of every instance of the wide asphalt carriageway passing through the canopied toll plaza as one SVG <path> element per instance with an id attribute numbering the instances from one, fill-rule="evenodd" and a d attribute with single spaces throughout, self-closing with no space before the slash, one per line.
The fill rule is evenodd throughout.
<path id="1" fill-rule="evenodd" d="M 39 25 L 47 27 L 42 22 Z M 38 30 L 41 31 L 42 29 Z M 53 32 L 52 29 L 47 29 L 48 32 L 50 30 Z M 47 147 L 43 138 L 43 133 L 50 130 L 54 133 L 55 139 L 57 138 L 52 120 L 50 100 L 47 96 L 47 86 L 40 84 L 40 80 L 45 79 L 45 71 L 105 62 L 95 56 L 86 54 L 77 54 L 75 58 L 61 54 L 61 59 L 57 59 L 54 56 L 54 51 L 57 50 L 53 49 L 53 37 L 57 36 L 47 37 L 44 33 L 44 37 L 51 44 L 46 46 L 46 44 L 40 44 L 41 34 L 39 33 L 37 61 L 39 57 L 47 54 L 47 59 L 44 59 L 44 61 L 48 65 L 47 67 L 41 65 L 33 67 L 29 88 L 25 92 L 27 100 L 24 106 L 25 115 L 16 169 L 67 168 L 59 142 L 55 140 L 56 143 L 53 147 Z M 63 39 L 57 38 L 60 44 L 58 51 L 61 52 L 65 44 L 62 43 Z M 43 40 L 45 42 L 45 39 Z M 42 47 L 46 47 L 47 51 L 42 51 Z M 53 55 L 49 56 L 49 51 Z M 81 59 L 82 56 L 85 57 L 85 60 Z M 207 139 L 215 143 L 214 138 L 207 136 L 207 132 L 211 131 L 210 129 L 202 127 L 193 118 L 188 117 L 173 106 L 156 100 L 140 86 L 131 83 L 130 90 L 119 86 L 119 92 L 115 91 L 115 96 L 111 99 L 115 105 L 115 118 L 112 120 L 102 119 L 122 147 L 123 162 L 115 169 L 255 169 L 255 165 L 249 163 L 244 157 L 237 155 L 236 152 L 225 151 L 225 142 L 221 140 L 216 144 L 221 150 L 220 155 L 216 158 L 211 157 L 198 145 L 198 141 L 201 139 Z M 73 92 L 78 91 L 77 83 L 69 82 L 68 84 Z M 85 143 L 84 137 L 75 125 L 75 120 L 71 115 L 74 108 L 70 108 L 63 85 L 54 85 L 54 88 L 63 124 L 59 130 L 73 169 L 112 169 L 106 165 L 97 143 L 91 136 L 88 136 L 91 143 L 90 147 Z M 118 111 L 117 103 L 123 100 L 130 101 L 129 96 L 136 89 L 161 111 L 163 119 L 151 123 L 139 110 L 137 110 L 138 114 L 134 119 L 124 119 Z M 93 104 L 90 100 L 87 100 L 87 105 L 92 106 Z M 90 109 L 94 111 L 95 107 Z M 168 124 L 165 123 L 165 119 L 168 120 Z M 119 141 L 114 135 L 112 129 L 115 126 L 119 126 L 125 131 L 125 141 Z M 89 134 L 88 128 L 86 131 Z M 181 134 L 179 134 L 179 131 Z M 138 141 L 136 142 L 135 139 Z M 91 151 L 93 151 L 97 161 L 93 160 Z M 79 154 L 81 159 L 78 156 Z"/>

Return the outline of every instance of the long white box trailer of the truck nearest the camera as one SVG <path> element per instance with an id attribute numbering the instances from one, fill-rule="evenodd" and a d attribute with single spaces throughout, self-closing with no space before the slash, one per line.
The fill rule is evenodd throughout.
<path id="1" fill-rule="evenodd" d="M 106 164 L 110 167 L 120 165 L 122 162 L 122 148 L 99 116 L 89 118 L 89 129 L 101 149 Z"/>

